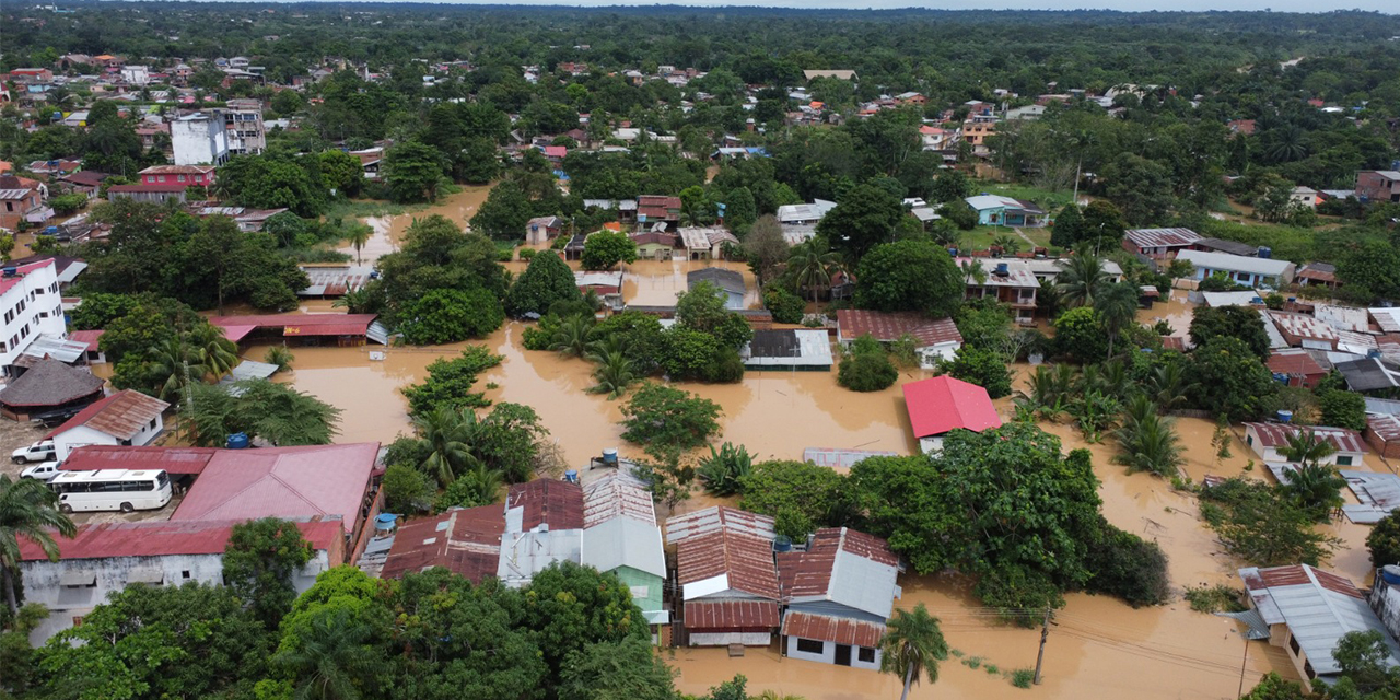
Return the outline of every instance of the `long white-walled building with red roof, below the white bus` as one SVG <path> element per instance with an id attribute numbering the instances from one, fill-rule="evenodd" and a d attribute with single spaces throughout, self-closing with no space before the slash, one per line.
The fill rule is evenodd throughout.
<path id="1" fill-rule="evenodd" d="M 90 522 L 69 539 L 55 536 L 59 560 L 49 561 L 32 540 L 20 538 L 20 574 L 25 602 L 41 603 L 49 615 L 32 633 L 31 644 L 83 623 L 83 617 L 132 584 L 179 587 L 186 582 L 223 585 L 224 547 L 242 521 Z M 298 594 L 316 575 L 344 563 L 339 518 L 295 518 L 311 560 L 291 577 Z"/>

